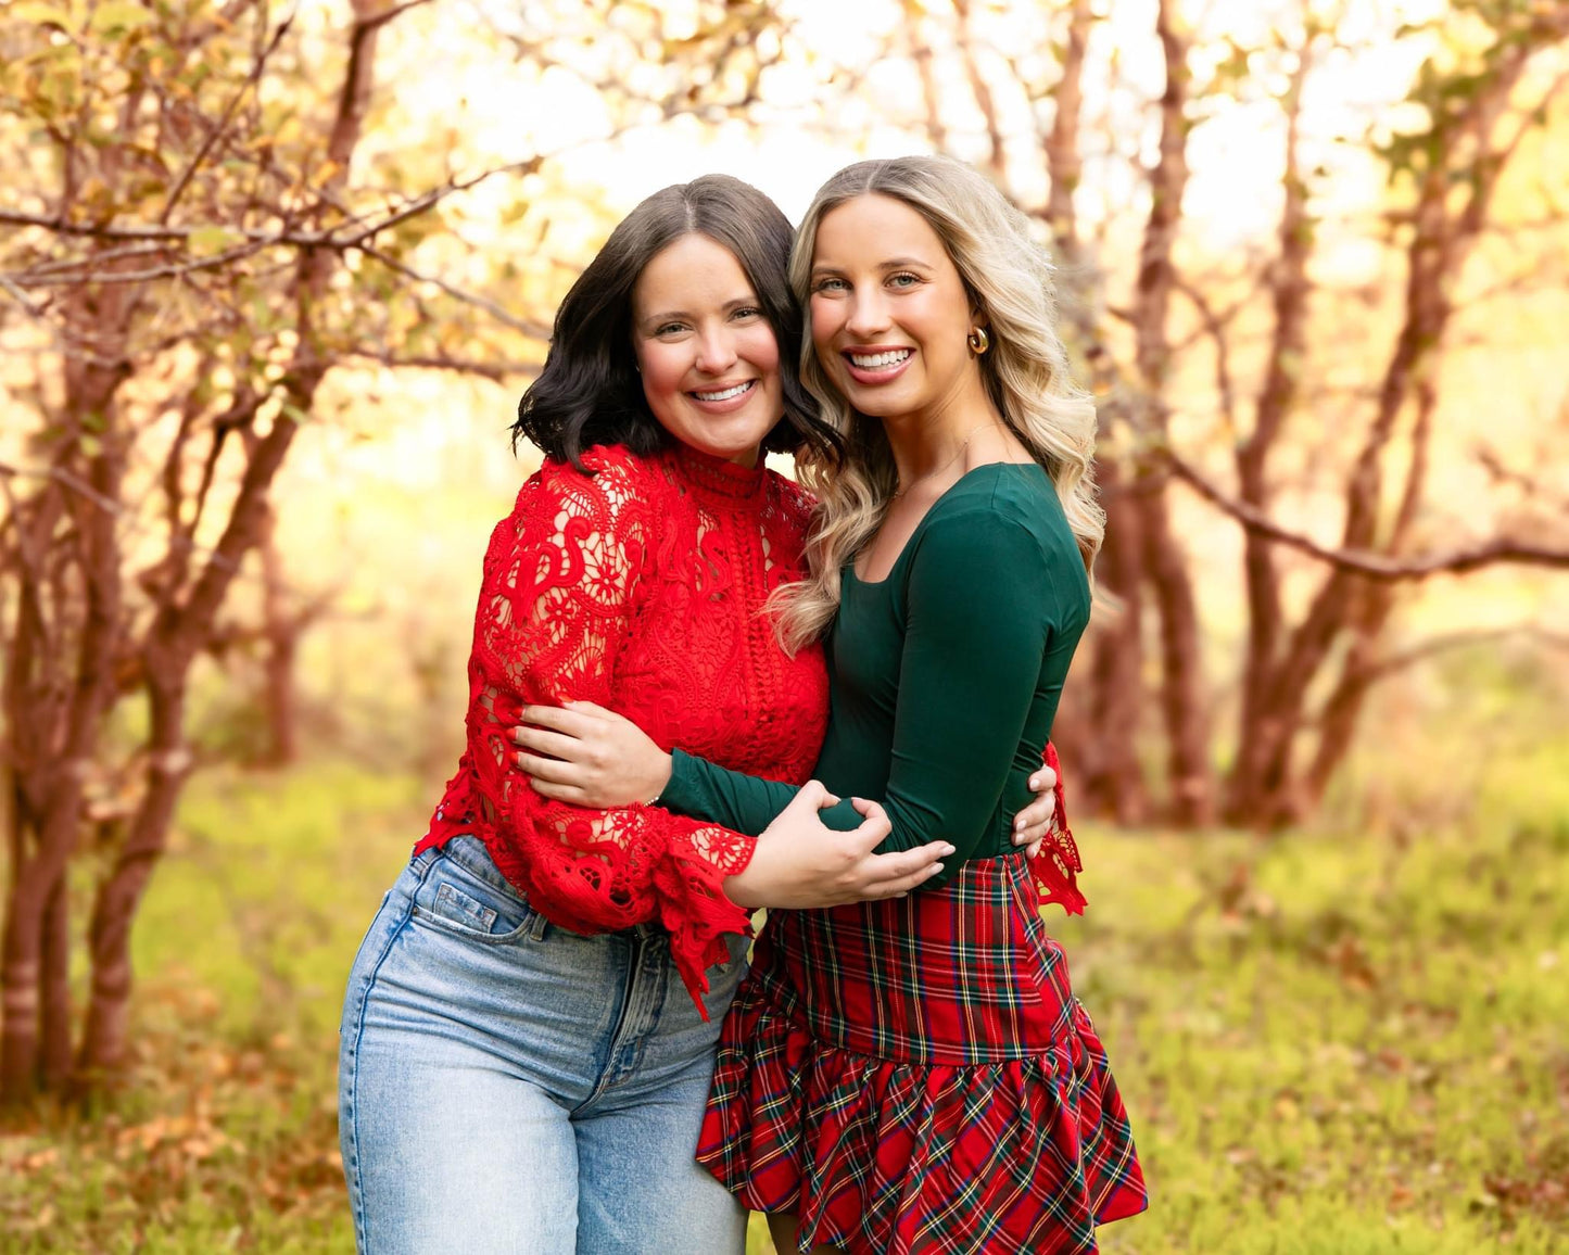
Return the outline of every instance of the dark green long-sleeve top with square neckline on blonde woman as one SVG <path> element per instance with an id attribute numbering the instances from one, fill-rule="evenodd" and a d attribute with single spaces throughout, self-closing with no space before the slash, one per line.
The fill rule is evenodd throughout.
<path id="1" fill-rule="evenodd" d="M 927 510 L 888 577 L 846 566 L 830 631 L 828 733 L 813 770 L 841 798 L 882 802 L 880 850 L 946 839 L 948 880 L 1014 849 L 1010 819 L 1051 734 L 1089 580 L 1062 504 L 1032 463 L 963 475 Z M 659 805 L 758 835 L 797 789 L 676 750 Z M 822 811 L 849 830 L 849 802 Z"/>

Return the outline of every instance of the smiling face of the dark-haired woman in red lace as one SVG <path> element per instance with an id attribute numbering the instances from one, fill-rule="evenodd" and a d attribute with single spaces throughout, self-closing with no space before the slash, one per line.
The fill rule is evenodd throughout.
<path id="1" fill-rule="evenodd" d="M 734 254 L 683 235 L 632 287 L 632 348 L 659 425 L 703 453 L 755 466 L 784 414 L 780 348 Z"/>

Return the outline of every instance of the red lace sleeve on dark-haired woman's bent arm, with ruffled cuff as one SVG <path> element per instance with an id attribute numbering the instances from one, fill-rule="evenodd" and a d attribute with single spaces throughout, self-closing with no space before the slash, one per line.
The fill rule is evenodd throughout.
<path id="1" fill-rule="evenodd" d="M 555 922 L 584 932 L 664 924 L 701 1009 L 704 969 L 728 959 L 723 933 L 750 930 L 723 882 L 752 860 L 755 839 L 657 806 L 551 802 L 507 766 L 516 748 L 507 729 L 522 706 L 612 704 L 654 511 L 629 458 L 590 464 L 593 475 L 546 464 L 491 535 L 469 671 L 472 803 L 501 836 L 502 872 Z"/>

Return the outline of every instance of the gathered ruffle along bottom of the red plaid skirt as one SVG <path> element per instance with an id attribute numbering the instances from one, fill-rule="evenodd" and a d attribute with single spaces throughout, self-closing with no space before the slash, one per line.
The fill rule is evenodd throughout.
<path id="1" fill-rule="evenodd" d="M 697 1158 L 748 1208 L 794 1213 L 803 1249 L 1094 1252 L 1147 1194 L 1100 1037 L 1076 999 L 1064 1010 L 1037 1053 L 908 1062 L 821 1040 L 748 980 Z"/>

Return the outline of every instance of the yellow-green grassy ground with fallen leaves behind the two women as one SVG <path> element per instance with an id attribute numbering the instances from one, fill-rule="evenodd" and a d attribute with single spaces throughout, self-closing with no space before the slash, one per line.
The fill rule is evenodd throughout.
<path id="1" fill-rule="evenodd" d="M 1094 905 L 1054 926 L 1153 1194 L 1105 1250 L 1569 1250 L 1566 748 L 1428 831 L 1079 833 Z M 337 1001 L 419 794 L 191 788 L 137 930 L 137 1067 L 0 1133 L 0 1250 L 351 1252 Z"/>

